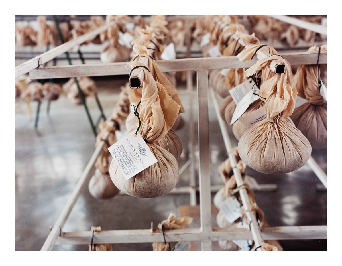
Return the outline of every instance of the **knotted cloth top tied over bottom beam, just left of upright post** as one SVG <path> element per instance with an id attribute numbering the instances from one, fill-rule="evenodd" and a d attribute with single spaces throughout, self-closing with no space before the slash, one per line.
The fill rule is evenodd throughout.
<path id="1" fill-rule="evenodd" d="M 165 238 L 165 235 L 164 235 L 165 229 L 168 229 L 168 230 L 179 229 L 179 228 L 182 228 L 182 226 L 184 225 L 190 224 L 192 221 L 193 221 L 192 217 L 182 216 L 182 217 L 176 218 L 176 215 L 174 215 L 173 213 L 170 213 L 169 217 L 166 220 L 158 224 L 158 228 L 162 230 L 163 236 Z M 166 240 L 164 242 L 153 242 L 152 247 L 153 247 L 153 251 L 171 251 L 172 242 L 166 242 Z"/>

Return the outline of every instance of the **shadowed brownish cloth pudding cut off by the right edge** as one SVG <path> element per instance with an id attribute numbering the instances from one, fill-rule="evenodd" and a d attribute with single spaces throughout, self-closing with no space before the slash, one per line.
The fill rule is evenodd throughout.
<path id="1" fill-rule="evenodd" d="M 327 45 L 308 52 L 327 54 Z M 313 148 L 327 147 L 327 102 L 320 94 L 319 65 L 302 65 L 294 75 L 293 87 L 307 103 L 294 109 L 291 119 Z"/>

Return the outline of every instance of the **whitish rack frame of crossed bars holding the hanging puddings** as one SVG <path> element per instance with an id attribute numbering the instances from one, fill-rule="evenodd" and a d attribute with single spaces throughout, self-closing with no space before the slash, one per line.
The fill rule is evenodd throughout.
<path id="1" fill-rule="evenodd" d="M 115 23 L 115 22 L 113 22 Z M 92 36 L 106 30 L 113 24 L 106 24 L 98 29 L 89 32 L 83 36 L 72 40 L 72 45 L 67 42 L 63 45 L 37 56 L 26 63 L 16 67 L 16 77 L 30 72 L 31 79 L 42 78 L 70 78 L 81 76 L 107 76 L 107 75 L 124 75 L 128 74 L 125 68 L 126 63 L 113 64 L 96 64 L 96 65 L 74 65 L 74 66 L 56 66 L 56 67 L 40 67 L 43 63 L 48 62 L 55 56 L 58 56 L 65 51 L 73 48 Z M 62 46 L 62 47 L 61 47 Z M 52 51 L 52 52 L 51 52 Z M 316 64 L 317 54 L 310 53 L 287 53 L 282 54 L 291 65 Z M 212 228 L 211 223 L 211 191 L 210 186 L 210 147 L 209 147 L 209 85 L 208 85 L 208 70 L 222 68 L 248 68 L 255 61 L 250 60 L 240 62 L 236 56 L 216 57 L 216 58 L 189 58 L 175 59 L 170 61 L 158 61 L 158 66 L 164 72 L 171 71 L 187 71 L 187 87 L 192 89 L 191 72 L 196 71 L 197 76 L 197 105 L 198 105 L 198 140 L 199 140 L 199 191 L 200 191 L 200 220 L 199 228 L 184 228 L 166 231 L 167 241 L 201 241 L 202 250 L 211 250 L 211 242 L 219 240 L 247 240 L 253 239 L 255 244 L 261 245 L 264 240 L 289 240 L 289 239 L 326 239 L 327 226 L 281 226 L 260 228 L 253 212 L 247 212 L 246 217 L 251 225 L 251 230 L 246 228 Z M 326 55 L 321 54 L 319 58 L 320 64 L 326 64 Z M 191 86 L 190 86 L 191 85 Z M 191 88 L 191 89 L 189 89 Z M 213 104 L 216 114 L 218 114 L 218 103 L 215 95 L 213 96 Z M 190 97 L 191 98 L 191 97 Z M 226 125 L 218 114 L 220 129 L 223 133 L 224 143 L 231 160 L 232 166 L 236 164 L 235 157 L 230 154 L 232 145 L 227 133 Z M 105 140 L 108 134 L 103 136 Z M 94 167 L 96 158 L 100 154 L 104 146 L 104 141 L 96 147 L 90 161 L 84 169 L 81 178 L 76 184 L 69 200 L 67 201 L 62 213 L 54 224 L 47 240 L 41 250 L 52 250 L 54 245 L 61 244 L 89 244 L 92 236 L 92 231 L 81 232 L 63 232 L 62 228 L 67 221 L 67 218 L 73 209 L 81 191 L 87 186 L 91 177 L 90 173 Z M 310 162 L 309 162 L 310 161 Z M 322 180 L 326 186 L 326 174 L 319 165 L 312 159 L 308 161 L 308 165 L 314 170 L 315 174 Z M 234 176 L 237 184 L 242 183 L 241 174 L 234 168 Z M 190 194 L 196 191 L 196 188 L 188 190 Z M 245 189 L 239 191 L 243 205 L 249 203 Z M 194 194 L 194 193 L 193 193 Z M 196 196 L 196 194 L 195 194 Z M 194 195 L 193 195 L 194 197 Z M 152 228 L 153 229 L 153 228 Z M 107 230 L 95 232 L 93 243 L 139 243 L 139 242 L 162 242 L 163 235 L 160 231 L 151 229 L 132 229 L 132 230 Z"/>

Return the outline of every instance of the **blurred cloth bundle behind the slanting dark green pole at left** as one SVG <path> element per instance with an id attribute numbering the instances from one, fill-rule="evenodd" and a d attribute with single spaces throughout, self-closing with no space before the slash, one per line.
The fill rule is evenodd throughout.
<path id="1" fill-rule="evenodd" d="M 96 85 L 94 80 L 89 77 L 78 77 L 76 78 L 84 97 L 94 96 L 96 93 Z M 76 104 L 82 104 L 80 95 L 78 93 L 77 85 L 75 82 L 75 78 L 69 79 L 64 85 L 62 86 L 63 91 L 67 94 L 67 99 Z"/>

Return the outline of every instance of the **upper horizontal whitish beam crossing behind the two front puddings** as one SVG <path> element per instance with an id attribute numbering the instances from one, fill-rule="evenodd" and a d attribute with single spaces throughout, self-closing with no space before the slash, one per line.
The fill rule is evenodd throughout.
<path id="1" fill-rule="evenodd" d="M 307 52 L 281 54 L 291 65 L 313 65 L 317 63 L 317 54 Z M 198 69 L 248 68 L 257 62 L 257 58 L 240 62 L 236 56 L 184 58 L 159 60 L 158 66 L 163 72 L 187 71 Z M 327 63 L 327 55 L 320 54 L 319 63 Z M 95 77 L 128 75 L 127 63 L 87 64 L 71 66 L 40 67 L 30 71 L 31 79 Z"/>

